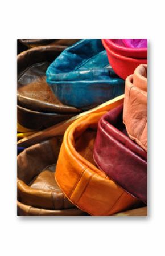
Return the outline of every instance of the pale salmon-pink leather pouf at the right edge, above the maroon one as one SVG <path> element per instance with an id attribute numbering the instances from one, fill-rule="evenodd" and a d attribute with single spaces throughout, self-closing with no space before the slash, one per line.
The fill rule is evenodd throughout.
<path id="1" fill-rule="evenodd" d="M 123 123 L 130 138 L 147 151 L 147 65 L 126 79 Z"/>

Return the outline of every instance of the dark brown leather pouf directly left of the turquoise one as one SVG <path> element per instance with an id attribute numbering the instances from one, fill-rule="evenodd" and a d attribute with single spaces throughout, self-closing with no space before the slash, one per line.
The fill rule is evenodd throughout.
<path id="1" fill-rule="evenodd" d="M 64 46 L 40 46 L 18 55 L 18 122 L 43 129 L 69 119 L 79 109 L 63 105 L 46 83 L 45 72 Z"/>

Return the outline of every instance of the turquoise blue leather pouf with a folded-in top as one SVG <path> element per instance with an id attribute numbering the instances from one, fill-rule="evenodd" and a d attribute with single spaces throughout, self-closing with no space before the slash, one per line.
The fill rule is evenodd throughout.
<path id="1" fill-rule="evenodd" d="M 63 104 L 90 109 L 124 92 L 124 81 L 107 66 L 101 40 L 80 40 L 48 67 L 47 83 Z"/>

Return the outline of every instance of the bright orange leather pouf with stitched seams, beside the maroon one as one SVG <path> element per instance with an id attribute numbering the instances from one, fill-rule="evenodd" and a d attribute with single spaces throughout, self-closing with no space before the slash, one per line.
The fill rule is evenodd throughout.
<path id="1" fill-rule="evenodd" d="M 68 127 L 55 173 L 56 182 L 65 196 L 93 216 L 109 216 L 139 204 L 135 197 L 94 165 L 97 124 L 104 113 L 81 117 Z"/>

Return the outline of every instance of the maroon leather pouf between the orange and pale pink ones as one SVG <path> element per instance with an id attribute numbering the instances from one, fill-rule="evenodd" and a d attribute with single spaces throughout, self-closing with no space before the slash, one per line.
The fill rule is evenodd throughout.
<path id="1" fill-rule="evenodd" d="M 147 153 L 127 136 L 122 115 L 120 105 L 101 117 L 94 161 L 123 189 L 147 203 Z"/>

